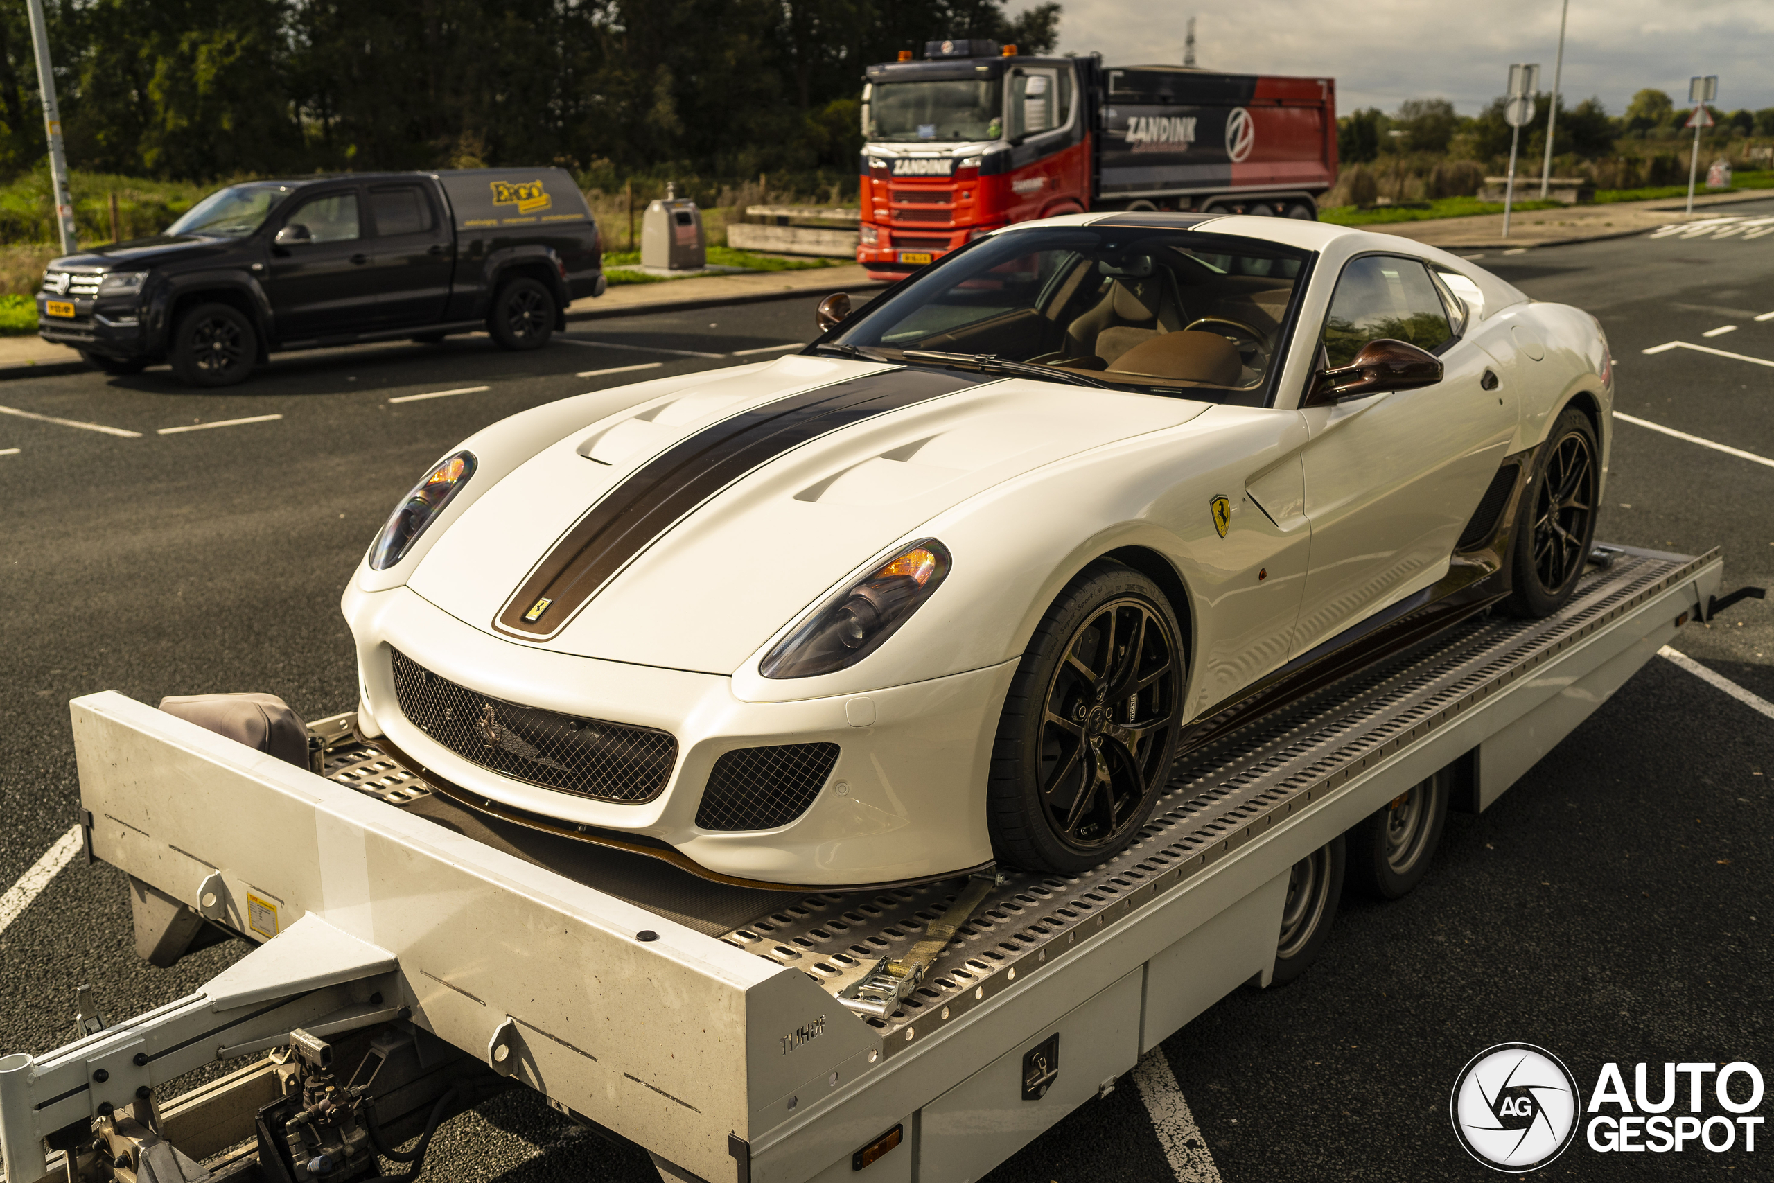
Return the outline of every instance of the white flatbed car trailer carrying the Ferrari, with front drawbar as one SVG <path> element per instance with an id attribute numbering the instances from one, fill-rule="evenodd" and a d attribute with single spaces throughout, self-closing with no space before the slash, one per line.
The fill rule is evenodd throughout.
<path id="1" fill-rule="evenodd" d="M 1717 552 L 1597 555 L 1554 617 L 1469 619 L 1190 752 L 1139 841 L 1077 878 L 715 883 L 431 793 L 349 717 L 316 725 L 316 773 L 76 699 L 87 853 L 128 873 L 138 952 L 170 965 L 218 929 L 257 947 L 0 1059 L 5 1178 L 360 1178 L 373 1149 L 530 1087 L 663 1179 L 977 1179 L 1268 984 L 1297 862 L 1446 770 L 1455 807 L 1485 809 L 1735 598 Z M 928 974 L 871 1004 L 924 940 Z"/>

